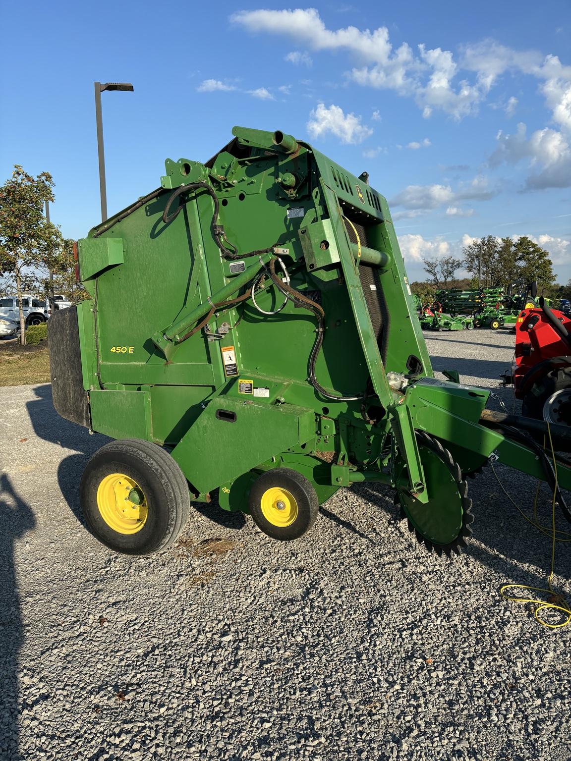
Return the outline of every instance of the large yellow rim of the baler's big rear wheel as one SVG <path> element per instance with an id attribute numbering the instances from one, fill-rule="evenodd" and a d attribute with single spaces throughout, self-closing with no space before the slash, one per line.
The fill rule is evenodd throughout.
<path id="1" fill-rule="evenodd" d="M 107 526 L 117 533 L 137 533 L 145 525 L 147 500 L 135 479 L 110 473 L 97 487 L 97 508 Z"/>

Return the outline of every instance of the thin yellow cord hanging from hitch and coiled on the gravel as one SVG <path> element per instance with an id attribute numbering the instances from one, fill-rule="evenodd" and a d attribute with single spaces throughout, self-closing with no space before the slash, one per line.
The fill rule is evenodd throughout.
<path id="1" fill-rule="evenodd" d="M 557 594 L 555 591 L 553 591 L 552 581 L 553 581 L 553 573 L 555 569 L 555 543 L 556 542 L 571 542 L 571 533 L 569 533 L 568 531 L 561 531 L 555 528 L 555 501 L 556 501 L 557 483 L 558 483 L 557 482 L 557 462 L 555 460 L 555 451 L 553 449 L 553 440 L 551 438 L 551 428 L 550 428 L 549 422 L 547 422 L 547 433 L 549 434 L 551 456 L 553 457 L 553 469 L 555 470 L 555 486 L 553 488 L 553 499 L 551 500 L 551 528 L 547 526 L 542 526 L 538 520 L 538 495 L 539 495 L 540 484 L 538 484 L 538 488 L 535 490 L 534 516 L 533 516 L 533 519 L 531 519 L 524 513 L 524 511 L 522 511 L 518 507 L 518 505 L 515 504 L 515 501 L 512 499 L 512 496 L 508 494 L 506 489 L 504 489 L 504 486 L 502 482 L 499 480 L 496 470 L 494 469 L 493 462 L 490 460 L 490 465 L 492 466 L 493 474 L 494 476 L 496 476 L 496 480 L 499 483 L 499 486 L 502 489 L 502 492 L 506 495 L 509 501 L 512 502 L 512 505 L 514 505 L 514 507 L 517 508 L 517 510 L 522 514 L 523 517 L 525 517 L 525 520 L 528 521 L 528 523 L 530 523 L 535 528 L 539 529 L 541 533 L 546 534 L 547 537 L 551 537 L 551 570 L 550 570 L 549 578 L 547 579 L 547 588 L 530 587 L 528 584 L 504 584 L 500 588 L 499 594 L 502 595 L 504 600 L 509 600 L 512 603 L 532 603 L 535 606 L 534 616 L 538 620 L 538 622 L 541 623 L 541 626 L 547 626 L 549 629 L 561 629 L 563 626 L 567 626 L 567 624 L 571 622 L 571 607 L 569 607 L 569 603 L 564 599 L 564 597 L 562 597 L 560 594 Z M 545 444 L 545 441 L 544 441 L 544 444 Z M 543 592 L 544 594 L 548 594 L 551 599 L 544 601 L 544 600 L 533 599 L 532 597 L 510 597 L 509 594 L 506 594 L 506 590 L 508 589 L 528 589 L 534 592 Z M 553 600 L 557 600 L 557 602 L 554 602 Z M 561 613 L 565 614 L 565 617 L 559 623 L 550 623 L 541 617 L 540 613 L 542 610 L 560 610 Z"/>

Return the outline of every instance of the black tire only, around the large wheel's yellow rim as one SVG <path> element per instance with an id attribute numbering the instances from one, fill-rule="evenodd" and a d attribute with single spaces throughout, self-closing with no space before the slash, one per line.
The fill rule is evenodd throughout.
<path id="1" fill-rule="evenodd" d="M 113 473 L 132 479 L 144 496 L 146 517 L 136 533 L 114 530 L 100 510 L 98 489 Z M 130 438 L 105 444 L 89 460 L 79 489 L 88 527 L 94 537 L 115 552 L 126 555 L 162 552 L 171 546 L 188 519 L 187 479 L 171 455 L 150 441 Z"/>

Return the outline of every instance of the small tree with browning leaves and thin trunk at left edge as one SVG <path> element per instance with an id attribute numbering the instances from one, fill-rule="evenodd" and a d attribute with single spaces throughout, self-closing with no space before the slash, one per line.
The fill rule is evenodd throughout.
<path id="1" fill-rule="evenodd" d="M 37 283 L 34 270 L 41 266 L 53 230 L 57 230 L 43 215 L 46 201 L 53 201 L 53 180 L 48 172 L 34 178 L 15 164 L 11 179 L 0 186 L 0 274 L 9 275 L 16 287 L 23 345 L 22 292 Z"/>

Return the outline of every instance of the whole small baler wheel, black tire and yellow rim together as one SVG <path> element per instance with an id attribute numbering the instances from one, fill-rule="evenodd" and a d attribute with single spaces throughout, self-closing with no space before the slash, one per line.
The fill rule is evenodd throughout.
<path id="1" fill-rule="evenodd" d="M 257 527 L 283 541 L 301 537 L 313 527 L 319 511 L 311 481 L 291 468 L 262 473 L 250 489 L 249 503 Z"/>

